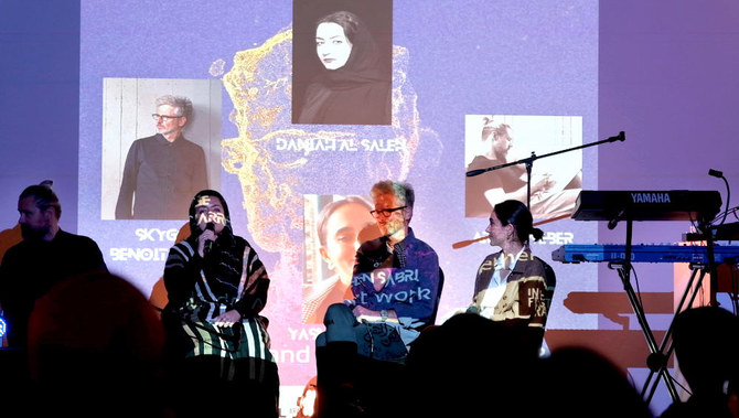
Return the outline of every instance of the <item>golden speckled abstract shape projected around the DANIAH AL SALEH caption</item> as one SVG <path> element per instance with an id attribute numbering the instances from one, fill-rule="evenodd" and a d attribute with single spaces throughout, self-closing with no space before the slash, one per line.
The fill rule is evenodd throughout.
<path id="1" fill-rule="evenodd" d="M 404 180 L 422 133 L 435 136 L 420 127 L 406 49 L 394 46 L 393 68 L 390 126 L 292 125 L 292 30 L 234 56 L 223 83 L 238 137 L 222 141 L 223 167 L 238 176 L 253 238 L 283 262 L 299 262 L 302 253 L 303 194 Z M 429 142 L 440 148 L 438 139 Z"/>

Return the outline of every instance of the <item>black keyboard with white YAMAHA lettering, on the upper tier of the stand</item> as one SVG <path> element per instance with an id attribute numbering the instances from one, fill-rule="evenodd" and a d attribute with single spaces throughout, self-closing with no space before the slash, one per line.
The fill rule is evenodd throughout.
<path id="1" fill-rule="evenodd" d="M 577 221 L 703 221 L 721 210 L 717 191 L 591 191 L 577 196 Z"/>

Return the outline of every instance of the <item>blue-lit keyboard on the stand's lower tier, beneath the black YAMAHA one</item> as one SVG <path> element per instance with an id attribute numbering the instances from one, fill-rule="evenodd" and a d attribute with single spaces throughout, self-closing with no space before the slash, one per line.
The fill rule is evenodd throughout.
<path id="1" fill-rule="evenodd" d="M 703 245 L 651 245 L 631 246 L 631 262 L 694 262 L 707 264 L 708 254 Z M 551 251 L 551 259 L 561 262 L 623 261 L 625 245 L 567 244 Z M 739 262 L 739 245 L 714 245 L 714 262 Z"/>

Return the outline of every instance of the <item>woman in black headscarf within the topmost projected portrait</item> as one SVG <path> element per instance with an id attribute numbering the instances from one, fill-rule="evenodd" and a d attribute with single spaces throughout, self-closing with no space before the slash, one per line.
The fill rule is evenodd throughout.
<path id="1" fill-rule="evenodd" d="M 298 124 L 390 125 L 392 53 L 358 15 L 336 11 L 314 25 L 318 74 L 293 109 Z"/>

